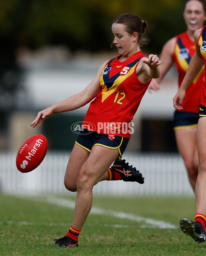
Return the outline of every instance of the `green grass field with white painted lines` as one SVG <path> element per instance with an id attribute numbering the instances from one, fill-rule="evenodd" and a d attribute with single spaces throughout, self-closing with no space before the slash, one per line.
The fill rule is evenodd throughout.
<path id="1" fill-rule="evenodd" d="M 71 196 L 63 199 L 75 201 Z M 1 194 L 0 255 L 206 255 L 206 243 L 195 243 L 179 228 L 181 217 L 194 218 L 194 205 L 194 198 L 95 197 L 93 206 L 101 208 L 102 213 L 88 216 L 79 247 L 69 249 L 54 247 L 53 240 L 67 233 L 72 209 L 44 198 Z M 142 218 L 128 219 L 127 214 L 115 217 L 119 212 Z M 177 228 L 156 227 L 157 221 Z"/>

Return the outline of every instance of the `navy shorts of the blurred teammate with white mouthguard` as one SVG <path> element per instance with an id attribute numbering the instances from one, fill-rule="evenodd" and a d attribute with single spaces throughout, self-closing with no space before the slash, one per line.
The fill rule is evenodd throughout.
<path id="1" fill-rule="evenodd" d="M 198 113 L 175 111 L 173 118 L 173 130 L 197 127 Z"/>

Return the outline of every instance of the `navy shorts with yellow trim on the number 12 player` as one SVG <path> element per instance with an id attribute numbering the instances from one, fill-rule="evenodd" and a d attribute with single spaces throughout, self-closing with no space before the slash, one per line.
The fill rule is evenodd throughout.
<path id="1" fill-rule="evenodd" d="M 100 145 L 105 148 L 118 149 L 119 157 L 117 159 L 121 159 L 128 142 L 129 139 L 122 136 L 99 134 L 95 131 L 90 133 L 90 131 L 87 129 L 81 131 L 77 140 L 75 141 L 77 145 L 88 150 L 89 152 L 95 145 Z"/>

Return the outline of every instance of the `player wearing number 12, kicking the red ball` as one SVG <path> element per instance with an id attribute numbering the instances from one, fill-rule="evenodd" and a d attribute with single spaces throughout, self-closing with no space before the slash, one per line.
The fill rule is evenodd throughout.
<path id="1" fill-rule="evenodd" d="M 157 55 L 146 57 L 140 50 L 147 41 L 143 35 L 146 27 L 147 23 L 135 14 L 118 16 L 112 24 L 112 46 L 117 47 L 119 55 L 104 62 L 82 92 L 40 111 L 31 124 L 35 127 L 40 122 L 41 127 L 54 113 L 71 111 L 93 100 L 65 174 L 66 188 L 77 191 L 73 222 L 68 233 L 55 240 L 56 246 L 78 246 L 78 235 L 92 207 L 93 186 L 123 172 L 118 161 L 109 167 L 122 156 L 130 138 L 131 120 L 151 78 L 159 76 L 161 62 Z M 92 132 L 87 129 L 88 122 L 93 124 Z"/>

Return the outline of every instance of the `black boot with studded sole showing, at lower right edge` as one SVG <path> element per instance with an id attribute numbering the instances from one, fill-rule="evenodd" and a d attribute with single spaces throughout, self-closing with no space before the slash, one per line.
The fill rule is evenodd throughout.
<path id="1" fill-rule="evenodd" d="M 191 236 L 198 244 L 205 242 L 206 232 L 199 221 L 191 221 L 188 218 L 181 218 L 180 228 L 186 235 Z"/>

